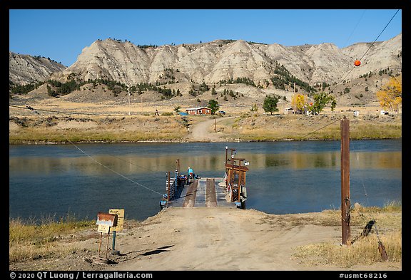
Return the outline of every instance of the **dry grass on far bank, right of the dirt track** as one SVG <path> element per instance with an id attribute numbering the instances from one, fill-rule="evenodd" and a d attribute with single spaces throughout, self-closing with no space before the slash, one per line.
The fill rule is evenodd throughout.
<path id="1" fill-rule="evenodd" d="M 339 140 L 342 115 L 251 115 L 242 114 L 230 128 L 220 131 L 241 140 Z M 353 119 L 350 124 L 351 139 L 401 138 L 401 118 Z"/>

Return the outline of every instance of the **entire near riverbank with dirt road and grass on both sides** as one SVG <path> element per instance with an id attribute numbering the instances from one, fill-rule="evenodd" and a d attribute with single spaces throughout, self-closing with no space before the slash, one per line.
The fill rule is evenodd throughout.
<path id="1" fill-rule="evenodd" d="M 100 234 L 91 223 L 83 229 L 70 228 L 42 239 L 11 239 L 9 254 L 17 247 L 27 247 L 26 252 L 41 247 L 48 247 L 49 251 L 14 259 L 9 262 L 9 269 L 401 270 L 401 206 L 357 205 L 351 212 L 353 239 L 360 236 L 371 217 L 377 221 L 378 235 L 389 261 L 380 258 L 374 228 L 368 237 L 358 239 L 350 247 L 340 246 L 339 210 L 266 214 L 255 209 L 172 207 L 142 222 L 125 219 L 124 230 L 116 236 L 116 249 L 121 254 L 108 254 L 110 264 L 96 261 Z M 14 227 L 10 229 L 14 232 Z M 106 253 L 104 244 L 106 239 L 101 256 Z M 109 244 L 111 247 L 111 239 Z"/>

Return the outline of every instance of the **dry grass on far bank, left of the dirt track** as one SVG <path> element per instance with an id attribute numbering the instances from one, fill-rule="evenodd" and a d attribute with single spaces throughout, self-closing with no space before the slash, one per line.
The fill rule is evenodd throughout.
<path id="1" fill-rule="evenodd" d="M 186 128 L 179 116 L 138 115 L 126 118 L 20 118 L 11 121 L 9 143 L 138 142 L 181 140 Z"/>

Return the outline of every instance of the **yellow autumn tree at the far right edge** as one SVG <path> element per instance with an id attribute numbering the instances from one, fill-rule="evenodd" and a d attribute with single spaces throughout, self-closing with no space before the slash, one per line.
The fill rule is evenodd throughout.
<path id="1" fill-rule="evenodd" d="M 381 90 L 377 91 L 377 98 L 385 110 L 398 112 L 402 105 L 402 75 L 391 77 Z"/>

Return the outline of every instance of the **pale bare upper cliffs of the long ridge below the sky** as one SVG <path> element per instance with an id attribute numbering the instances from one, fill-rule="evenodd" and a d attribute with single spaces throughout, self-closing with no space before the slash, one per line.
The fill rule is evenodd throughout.
<path id="1" fill-rule="evenodd" d="M 282 46 L 277 43 L 217 40 L 178 46 L 136 46 L 113 39 L 98 40 L 83 48 L 64 72 L 84 80 L 106 78 L 121 83 L 193 82 L 218 83 L 249 78 L 263 83 L 275 76 L 277 64 L 310 85 L 338 83 L 371 43 L 338 48 L 332 43 Z M 347 80 L 385 68 L 401 71 L 402 34 L 376 42 Z"/>

